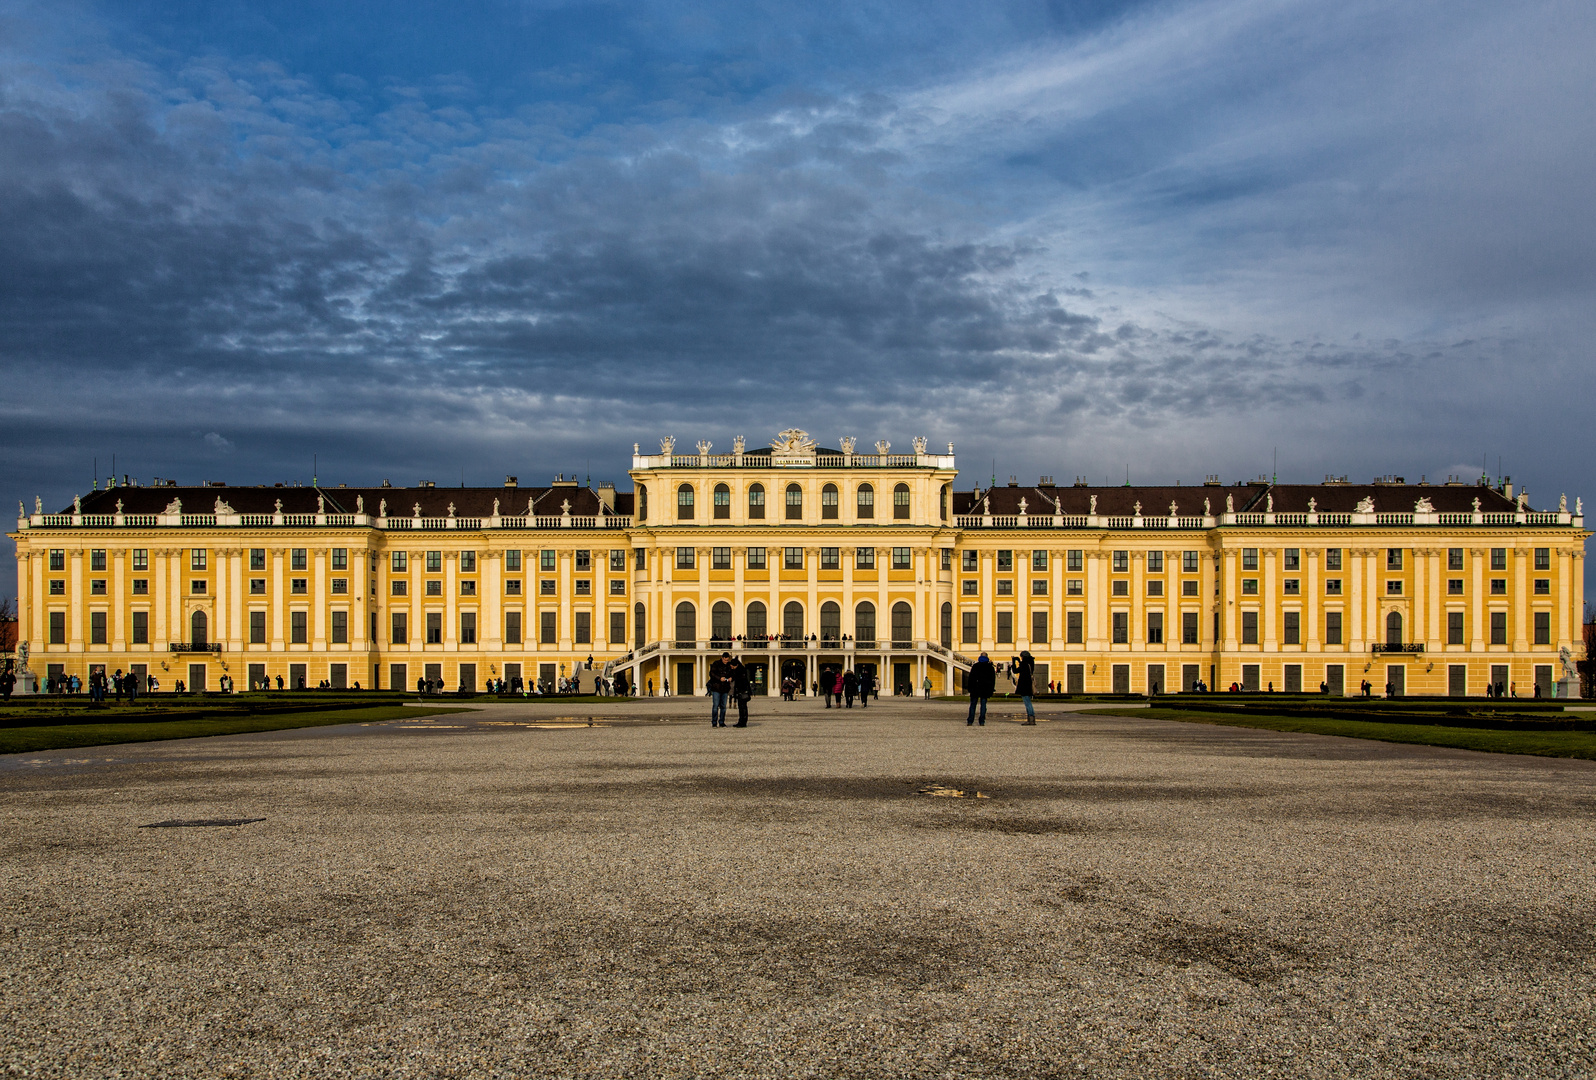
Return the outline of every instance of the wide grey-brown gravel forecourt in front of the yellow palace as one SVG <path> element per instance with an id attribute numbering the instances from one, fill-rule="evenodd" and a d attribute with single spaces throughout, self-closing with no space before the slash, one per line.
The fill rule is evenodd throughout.
<path id="1" fill-rule="evenodd" d="M 0 1075 L 1596 1074 L 1596 763 L 702 713 L 0 758 Z"/>

